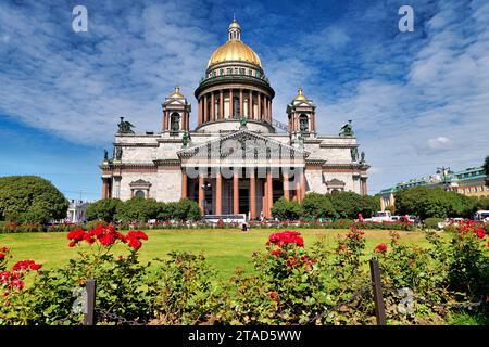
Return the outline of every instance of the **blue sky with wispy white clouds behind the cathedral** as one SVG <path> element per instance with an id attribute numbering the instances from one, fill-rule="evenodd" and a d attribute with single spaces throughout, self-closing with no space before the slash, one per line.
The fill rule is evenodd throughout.
<path id="1" fill-rule="evenodd" d="M 74 33 L 72 9 L 88 9 Z M 414 9 L 400 33 L 398 10 Z M 161 102 L 193 90 L 236 14 L 276 91 L 302 87 L 321 133 L 353 119 L 369 193 L 489 154 L 489 2 L 13 1 L 0 3 L 0 176 L 39 175 L 98 198 L 120 116 L 159 131 Z M 197 110 L 193 107 L 193 110 Z M 191 115 L 191 126 L 197 114 Z"/>

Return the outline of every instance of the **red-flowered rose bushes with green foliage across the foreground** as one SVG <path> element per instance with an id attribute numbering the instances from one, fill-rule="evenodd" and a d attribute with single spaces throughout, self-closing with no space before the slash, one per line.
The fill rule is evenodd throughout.
<path id="1" fill-rule="evenodd" d="M 485 226 L 452 229 L 450 237 L 426 233 L 427 248 L 391 232 L 389 243 L 368 250 L 365 232 L 354 227 L 334 244 L 319 239 L 312 246 L 297 231 L 275 232 L 252 255 L 252 273 L 238 269 L 224 282 L 203 255 L 174 252 L 141 262 L 149 239 L 141 231 L 75 229 L 66 246 L 78 255 L 61 269 L 43 270 L 30 259 L 9 267 L 11 249 L 0 248 L 0 324 L 80 324 L 73 290 L 90 278 L 98 324 L 120 324 L 112 314 L 148 324 L 375 324 L 371 257 L 379 261 L 389 324 L 440 324 L 456 310 L 432 303 L 479 301 L 489 292 Z M 419 298 L 409 310 L 399 305 L 401 288 Z"/>

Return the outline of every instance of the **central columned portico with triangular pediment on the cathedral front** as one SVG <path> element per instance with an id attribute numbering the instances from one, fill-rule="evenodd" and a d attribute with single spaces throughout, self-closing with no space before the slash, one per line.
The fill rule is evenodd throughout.
<path id="1" fill-rule="evenodd" d="M 177 153 L 181 197 L 204 214 L 246 214 L 269 218 L 284 197 L 301 202 L 308 153 L 248 130 Z"/>

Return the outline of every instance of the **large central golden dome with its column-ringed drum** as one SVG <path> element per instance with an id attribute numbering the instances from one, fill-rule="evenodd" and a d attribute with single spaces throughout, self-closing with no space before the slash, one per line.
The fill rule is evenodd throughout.
<path id="1" fill-rule="evenodd" d="M 228 41 L 217 48 L 208 63 L 205 77 L 196 89 L 198 127 L 196 131 L 215 131 L 216 123 L 238 130 L 246 117 L 261 129 L 275 132 L 272 125 L 272 100 L 275 91 L 262 69 L 258 54 L 241 41 L 236 21 L 229 25 Z M 211 127 L 211 125 L 213 125 Z"/>

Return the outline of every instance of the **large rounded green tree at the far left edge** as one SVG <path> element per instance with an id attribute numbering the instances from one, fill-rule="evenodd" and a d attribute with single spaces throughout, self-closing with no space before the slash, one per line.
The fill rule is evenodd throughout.
<path id="1" fill-rule="evenodd" d="M 37 176 L 0 178 L 0 220 L 46 223 L 66 217 L 68 201 Z"/>

